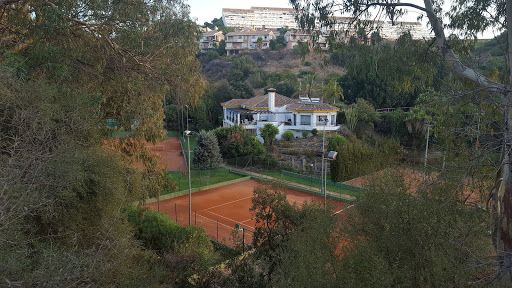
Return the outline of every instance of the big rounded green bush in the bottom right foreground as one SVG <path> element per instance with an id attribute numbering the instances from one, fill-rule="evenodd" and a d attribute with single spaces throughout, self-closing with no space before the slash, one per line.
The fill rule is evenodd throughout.
<path id="1" fill-rule="evenodd" d="M 344 287 L 472 287 L 488 281 L 482 276 L 490 269 L 481 265 L 492 251 L 486 212 L 464 203 L 457 186 L 445 181 L 412 194 L 400 172 L 373 177 L 340 230 L 345 245 L 337 272 Z"/>

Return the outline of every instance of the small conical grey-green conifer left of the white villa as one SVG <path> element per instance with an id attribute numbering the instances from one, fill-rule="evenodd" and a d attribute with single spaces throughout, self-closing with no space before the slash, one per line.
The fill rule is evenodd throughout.
<path id="1" fill-rule="evenodd" d="M 212 169 L 219 167 L 222 162 L 219 143 L 212 131 L 199 132 L 197 145 L 194 148 L 194 165 L 199 169 Z"/>

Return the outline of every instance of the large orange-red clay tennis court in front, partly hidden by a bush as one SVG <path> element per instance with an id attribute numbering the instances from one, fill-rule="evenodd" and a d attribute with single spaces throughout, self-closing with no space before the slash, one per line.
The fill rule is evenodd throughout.
<path id="1" fill-rule="evenodd" d="M 245 228 L 245 243 L 252 243 L 255 220 L 252 219 L 249 208 L 252 205 L 254 187 L 261 183 L 255 180 L 245 180 L 238 183 L 228 184 L 192 194 L 192 225 L 204 228 L 210 238 L 224 244 L 233 246 L 229 241 L 231 232 L 238 224 Z M 320 196 L 305 192 L 288 189 L 287 199 L 289 202 L 298 204 L 304 201 L 319 201 L 323 203 Z M 343 202 L 329 199 L 336 211 L 341 211 L 345 206 Z M 176 198 L 160 200 L 148 203 L 146 206 L 168 215 L 171 219 L 182 225 L 188 225 L 188 194 Z M 248 230 L 249 231 L 248 231 Z"/>

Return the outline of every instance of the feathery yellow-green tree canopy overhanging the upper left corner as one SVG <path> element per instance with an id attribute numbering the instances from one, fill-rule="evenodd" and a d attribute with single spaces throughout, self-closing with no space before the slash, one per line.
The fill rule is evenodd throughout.
<path id="1" fill-rule="evenodd" d="M 136 123 L 136 137 L 163 136 L 166 94 L 182 107 L 204 90 L 182 1 L 15 0 L 0 12 L 3 64 L 96 95 L 103 118 L 128 130 Z"/>

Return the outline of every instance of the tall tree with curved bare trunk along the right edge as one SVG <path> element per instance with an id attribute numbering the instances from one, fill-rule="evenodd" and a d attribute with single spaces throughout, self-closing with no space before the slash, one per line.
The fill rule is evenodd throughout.
<path id="1" fill-rule="evenodd" d="M 444 63 L 458 77 L 475 83 L 482 97 L 492 98 L 503 111 L 502 131 L 500 137 L 501 157 L 497 161 L 495 185 L 490 192 L 495 224 L 494 245 L 497 253 L 498 272 L 512 278 L 512 73 L 508 83 L 498 83 L 475 69 L 465 65 L 450 45 L 445 27 L 458 29 L 466 36 L 476 37 L 478 32 L 487 28 L 506 31 L 508 47 L 512 47 L 512 2 L 501 0 L 454 1 L 446 13 L 449 22 L 443 23 L 443 1 L 423 0 L 423 5 L 399 0 L 290 0 L 293 7 L 300 11 L 298 23 L 303 28 L 314 29 L 316 21 L 323 25 L 335 24 L 331 17 L 335 11 L 361 18 L 370 15 L 385 15 L 396 21 L 407 11 L 415 10 L 426 17 L 435 36 Z M 508 20 L 508 21 L 507 21 Z M 510 50 L 507 52 L 508 66 L 512 67 Z"/>

